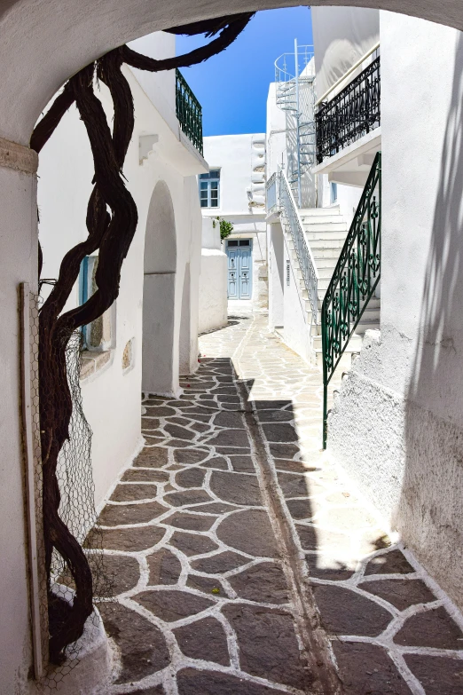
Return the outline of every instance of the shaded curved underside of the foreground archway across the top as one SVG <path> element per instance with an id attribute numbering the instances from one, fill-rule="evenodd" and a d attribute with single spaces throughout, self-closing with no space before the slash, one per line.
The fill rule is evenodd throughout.
<path id="1" fill-rule="evenodd" d="M 301 3 L 234 0 L 232 12 Z M 461 0 L 314 0 L 404 12 L 463 30 Z M 230 0 L 0 0 L 0 136 L 27 145 L 53 94 L 91 60 L 153 31 L 230 12 Z"/>

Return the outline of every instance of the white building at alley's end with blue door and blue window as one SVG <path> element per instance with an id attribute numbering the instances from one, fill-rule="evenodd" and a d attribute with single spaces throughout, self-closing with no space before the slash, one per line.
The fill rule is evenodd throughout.
<path id="1" fill-rule="evenodd" d="M 265 136 L 210 136 L 204 156 L 210 172 L 200 175 L 202 215 L 233 225 L 224 241 L 230 306 L 266 309 Z"/>

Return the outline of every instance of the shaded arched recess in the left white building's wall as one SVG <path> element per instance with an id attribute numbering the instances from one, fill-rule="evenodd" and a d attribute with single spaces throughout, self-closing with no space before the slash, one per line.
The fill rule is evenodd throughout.
<path id="1" fill-rule="evenodd" d="M 169 187 L 159 181 L 150 201 L 145 234 L 143 391 L 173 390 L 176 270 L 174 207 Z"/>

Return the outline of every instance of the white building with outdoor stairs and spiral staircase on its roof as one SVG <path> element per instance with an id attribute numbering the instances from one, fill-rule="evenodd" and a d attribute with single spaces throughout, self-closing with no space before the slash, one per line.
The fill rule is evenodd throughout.
<path id="1" fill-rule="evenodd" d="M 374 16 L 378 20 L 377 12 Z M 357 31 L 362 32 L 361 24 Z M 324 40 L 316 36 L 316 43 Z M 315 114 L 322 83 L 317 55 L 314 58 L 312 46 L 295 43 L 292 53 L 276 59 L 276 82 L 271 83 L 267 100 L 266 148 L 271 184 L 267 217 L 270 326 L 294 351 L 320 366 L 321 304 L 366 176 L 333 178 L 331 170 L 317 164 Z M 322 67 L 326 69 L 325 62 Z M 310 282 L 317 285 L 312 293 Z M 360 336 L 378 320 L 379 301 L 357 327 L 349 354 L 359 350 Z M 350 357 L 343 363 L 349 367 Z"/>

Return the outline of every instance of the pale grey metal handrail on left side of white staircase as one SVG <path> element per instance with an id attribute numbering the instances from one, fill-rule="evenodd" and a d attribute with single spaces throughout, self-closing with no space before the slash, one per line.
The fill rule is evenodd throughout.
<path id="1" fill-rule="evenodd" d="M 272 207 L 278 206 L 282 216 L 284 217 L 291 238 L 294 243 L 297 260 L 302 272 L 302 278 L 307 290 L 307 296 L 310 301 L 310 309 L 312 310 L 312 321 L 317 324 L 318 312 L 318 270 L 315 265 L 314 257 L 310 250 L 310 246 L 305 238 L 304 228 L 302 225 L 299 209 L 297 208 L 291 186 L 286 178 L 283 170 L 279 170 L 271 176 L 267 182 L 267 211 L 270 210 L 269 203 L 272 201 L 273 193 L 272 186 L 276 189 L 276 201 Z"/>

